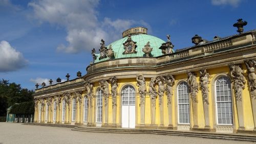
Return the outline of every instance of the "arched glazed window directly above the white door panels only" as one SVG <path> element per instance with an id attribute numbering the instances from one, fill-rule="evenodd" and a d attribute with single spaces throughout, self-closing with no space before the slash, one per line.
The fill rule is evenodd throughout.
<path id="1" fill-rule="evenodd" d="M 129 85 L 122 90 L 122 105 L 135 105 L 134 87 Z"/>

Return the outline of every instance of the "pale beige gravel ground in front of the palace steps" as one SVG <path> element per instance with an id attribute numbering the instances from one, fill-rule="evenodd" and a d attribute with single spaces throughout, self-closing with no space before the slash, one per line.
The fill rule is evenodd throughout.
<path id="1" fill-rule="evenodd" d="M 0 143 L 252 143 L 247 141 L 169 136 L 71 131 L 70 128 L 0 123 Z"/>

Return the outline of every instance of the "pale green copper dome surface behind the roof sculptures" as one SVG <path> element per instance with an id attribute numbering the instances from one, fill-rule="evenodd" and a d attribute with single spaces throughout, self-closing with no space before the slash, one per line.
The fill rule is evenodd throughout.
<path id="1" fill-rule="evenodd" d="M 137 42 L 137 48 L 136 54 L 123 54 L 124 52 L 124 48 L 123 48 L 123 43 L 127 40 L 127 36 L 119 39 L 117 41 L 114 41 L 112 43 L 110 43 L 108 46 L 108 49 L 110 47 L 110 45 L 112 45 L 112 50 L 114 51 L 114 59 L 119 59 L 119 58 L 131 58 L 131 57 L 145 57 L 144 53 L 142 52 L 142 49 L 144 48 L 144 46 L 146 45 L 146 43 L 149 41 L 150 42 L 150 46 L 153 48 L 152 52 L 151 52 L 151 56 L 152 57 L 157 57 L 157 56 L 161 56 L 162 55 L 162 51 L 159 49 L 159 47 L 161 46 L 162 43 L 165 43 L 165 41 L 163 41 L 160 38 L 157 38 L 155 36 L 151 36 L 151 35 L 147 35 L 147 34 L 137 34 L 137 35 L 132 35 L 131 38 L 134 42 Z M 103 58 L 99 60 L 99 56 L 97 57 L 97 59 L 94 61 L 94 63 L 100 62 L 100 61 L 105 61 L 105 60 L 109 60 L 110 58 Z"/>

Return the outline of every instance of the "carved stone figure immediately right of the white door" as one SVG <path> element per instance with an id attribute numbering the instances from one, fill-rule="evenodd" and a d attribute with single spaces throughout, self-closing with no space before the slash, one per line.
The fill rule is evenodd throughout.
<path id="1" fill-rule="evenodd" d="M 143 75 L 137 75 L 137 86 L 139 87 L 139 93 L 140 93 L 140 105 L 144 105 L 144 98 L 146 94 L 146 83 Z"/>

